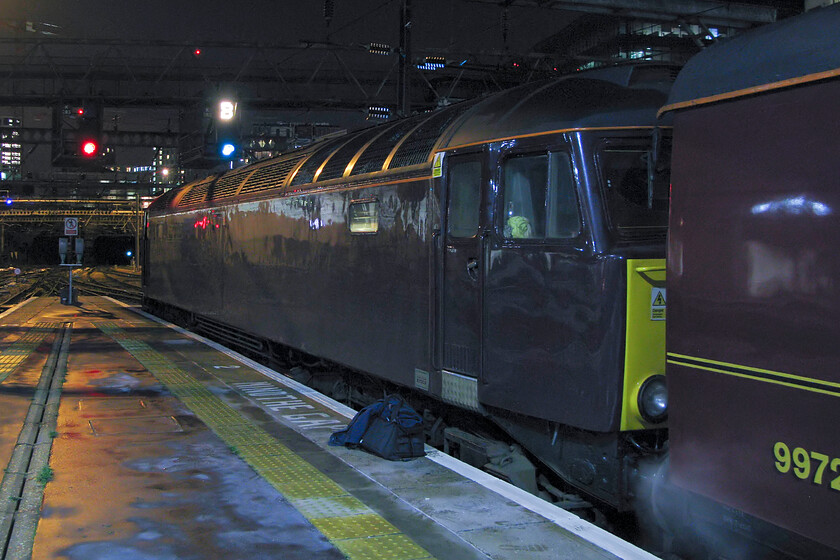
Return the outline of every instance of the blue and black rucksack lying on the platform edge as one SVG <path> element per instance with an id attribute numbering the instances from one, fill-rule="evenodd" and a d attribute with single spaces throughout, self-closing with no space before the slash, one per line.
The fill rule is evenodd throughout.
<path id="1" fill-rule="evenodd" d="M 399 395 L 388 395 L 360 410 L 330 445 L 361 447 L 389 461 L 423 457 L 423 418 Z"/>

